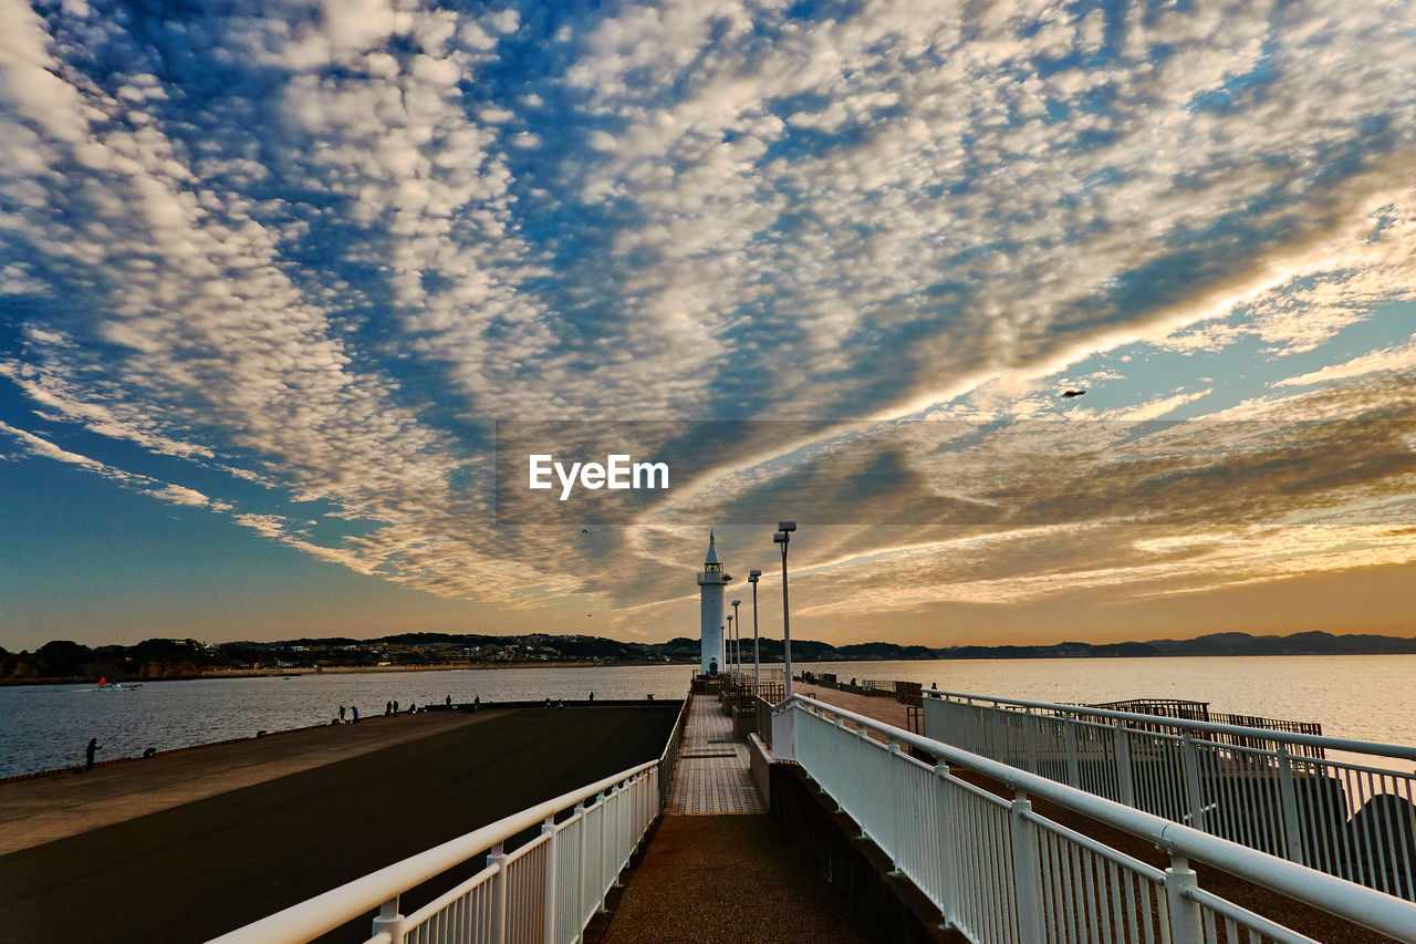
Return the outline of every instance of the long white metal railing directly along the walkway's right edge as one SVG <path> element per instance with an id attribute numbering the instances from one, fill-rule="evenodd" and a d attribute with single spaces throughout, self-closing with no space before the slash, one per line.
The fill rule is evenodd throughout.
<path id="1" fill-rule="evenodd" d="M 800 695 L 780 703 L 772 721 L 773 754 L 799 763 L 971 941 L 1311 941 L 1199 889 L 1195 860 L 1416 943 L 1416 904 L 1154 814 Z M 961 780 L 952 765 L 1000 781 L 1012 799 Z M 1170 867 L 1038 815 L 1032 798 L 1154 842 Z"/>

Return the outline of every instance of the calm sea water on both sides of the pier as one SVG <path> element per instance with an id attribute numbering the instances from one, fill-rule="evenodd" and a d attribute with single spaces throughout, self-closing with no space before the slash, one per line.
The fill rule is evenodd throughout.
<path id="1" fill-rule="evenodd" d="M 775 666 L 780 668 L 780 666 Z M 1216 712 L 1321 721 L 1334 737 L 1416 744 L 1416 655 L 1208 659 L 978 659 L 804 663 L 843 678 L 937 682 L 940 687 L 1051 702 L 1172 697 Z M 690 666 L 602 666 L 306 675 L 290 679 L 149 682 L 132 692 L 92 685 L 0 687 L 0 777 L 84 760 L 140 755 L 329 721 L 340 704 L 520 699 L 683 697 Z"/>

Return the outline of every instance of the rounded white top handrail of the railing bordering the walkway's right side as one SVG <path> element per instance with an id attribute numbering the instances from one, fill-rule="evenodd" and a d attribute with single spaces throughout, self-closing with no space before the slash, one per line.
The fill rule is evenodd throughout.
<path id="1" fill-rule="evenodd" d="M 860 729 L 872 730 L 901 744 L 909 744 L 927 751 L 940 761 L 966 767 L 998 780 L 1012 790 L 1024 791 L 1124 832 L 1150 839 L 1172 855 L 1204 862 L 1247 879 L 1255 884 L 1310 903 L 1355 924 L 1391 934 L 1398 940 L 1416 941 L 1416 935 L 1413 935 L 1413 928 L 1416 928 L 1416 904 L 1410 901 L 1327 875 L 1325 872 L 1317 872 L 1307 866 L 1270 856 L 1247 846 L 1240 846 L 1228 839 L 1221 839 L 1219 836 L 1212 836 L 1154 814 L 1121 805 L 1104 797 L 1097 797 L 1096 794 L 1059 784 L 1046 777 L 1029 774 L 1017 767 L 1010 767 L 942 741 L 913 734 L 893 724 L 877 721 L 865 714 L 857 714 L 835 704 L 817 702 L 804 695 L 793 695 L 784 699 L 777 707 L 792 710 L 796 704 L 834 714 Z"/>

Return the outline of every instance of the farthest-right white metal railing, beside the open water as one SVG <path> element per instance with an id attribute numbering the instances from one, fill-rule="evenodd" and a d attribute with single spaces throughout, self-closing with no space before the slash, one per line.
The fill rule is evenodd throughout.
<path id="1" fill-rule="evenodd" d="M 1416 748 L 926 690 L 973 754 L 1416 900 Z"/>

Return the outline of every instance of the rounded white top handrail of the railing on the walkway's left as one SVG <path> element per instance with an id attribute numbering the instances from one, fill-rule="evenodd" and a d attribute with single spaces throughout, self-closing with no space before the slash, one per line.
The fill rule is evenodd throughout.
<path id="1" fill-rule="evenodd" d="M 212 938 L 210 944 L 268 944 L 278 940 L 310 940 L 319 937 L 346 921 L 378 909 L 384 901 L 442 875 L 479 852 L 491 849 L 498 842 L 510 839 L 523 829 L 530 829 L 544 822 L 547 816 L 554 816 L 562 809 L 569 809 L 582 799 L 595 797 L 600 791 L 609 790 L 615 784 L 630 780 L 657 765 L 657 760 L 646 761 L 588 787 L 561 794 L 555 799 L 548 799 L 544 804 L 511 814 L 497 822 L 463 833 L 456 839 L 449 839 L 426 852 L 419 852 L 402 862 L 395 862 L 378 872 L 371 872 L 364 877 L 347 882 L 313 899 L 292 904 L 283 911 L 276 911 L 259 921 Z"/>

